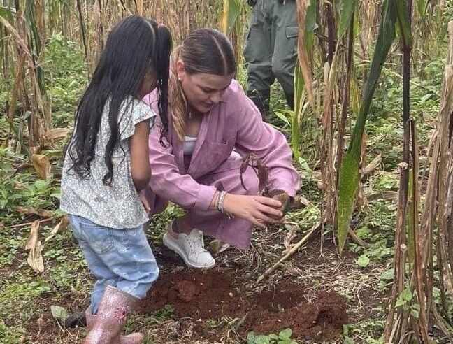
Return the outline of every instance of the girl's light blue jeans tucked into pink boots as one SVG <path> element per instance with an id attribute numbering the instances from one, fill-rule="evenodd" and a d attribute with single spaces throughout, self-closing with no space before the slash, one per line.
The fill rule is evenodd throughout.
<path id="1" fill-rule="evenodd" d="M 114 229 L 77 215 L 69 215 L 69 222 L 96 278 L 91 313 L 97 313 L 106 285 L 143 299 L 159 276 L 143 227 Z"/>

